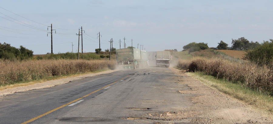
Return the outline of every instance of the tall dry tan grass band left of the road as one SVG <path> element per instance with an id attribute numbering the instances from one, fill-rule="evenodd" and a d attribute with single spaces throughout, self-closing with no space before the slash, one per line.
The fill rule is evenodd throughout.
<path id="1" fill-rule="evenodd" d="M 109 60 L 0 61 L 0 85 L 115 67 L 116 61 Z"/>

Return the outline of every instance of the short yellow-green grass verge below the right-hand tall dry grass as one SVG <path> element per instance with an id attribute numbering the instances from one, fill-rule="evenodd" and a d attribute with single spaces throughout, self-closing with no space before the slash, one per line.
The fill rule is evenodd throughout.
<path id="1" fill-rule="evenodd" d="M 230 82 L 224 79 L 216 79 L 214 76 L 205 75 L 202 72 L 186 73 L 199 81 L 204 82 L 207 86 L 214 87 L 217 90 L 253 105 L 261 110 L 265 110 L 267 114 L 273 114 L 273 97 L 254 91 L 252 89 L 242 87 L 240 82 Z"/>

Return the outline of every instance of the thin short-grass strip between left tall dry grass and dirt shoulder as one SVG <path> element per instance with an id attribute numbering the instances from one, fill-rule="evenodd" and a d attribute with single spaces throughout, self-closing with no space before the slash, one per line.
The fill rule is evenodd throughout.
<path id="1" fill-rule="evenodd" d="M 51 80 L 69 78 L 69 77 L 76 77 L 76 76 L 81 76 L 81 75 L 86 75 L 86 74 L 94 74 L 94 73 L 98 73 L 98 72 L 104 72 L 104 71 L 107 71 L 107 70 L 110 70 L 110 69 L 97 70 L 97 71 L 94 71 L 94 72 L 87 72 L 87 73 L 53 76 L 53 77 L 47 77 L 47 78 L 40 79 L 40 80 L 15 82 L 14 84 L 4 84 L 4 85 L 0 85 L 0 91 L 5 90 L 7 88 L 27 86 L 27 85 L 42 83 L 42 82 L 45 82 L 45 81 L 51 81 Z"/>

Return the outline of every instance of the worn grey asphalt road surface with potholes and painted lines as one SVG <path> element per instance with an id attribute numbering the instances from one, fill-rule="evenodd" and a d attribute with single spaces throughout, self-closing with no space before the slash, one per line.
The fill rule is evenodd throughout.
<path id="1" fill-rule="evenodd" d="M 189 89 L 177 76 L 165 67 L 124 70 L 10 94 L 0 101 L 0 123 L 171 122 L 148 115 L 191 106 L 175 89 Z"/>

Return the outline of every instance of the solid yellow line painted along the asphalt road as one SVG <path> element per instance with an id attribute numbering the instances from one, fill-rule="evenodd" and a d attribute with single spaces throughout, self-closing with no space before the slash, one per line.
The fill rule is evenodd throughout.
<path id="1" fill-rule="evenodd" d="M 129 76 L 126 76 L 125 78 L 127 78 L 127 77 L 129 77 Z M 120 80 L 123 80 L 123 79 L 125 79 L 125 78 L 122 78 L 122 79 L 120 79 Z M 120 80 L 118 80 L 118 81 L 120 81 Z M 116 81 L 116 82 L 118 82 L 118 81 Z M 87 96 L 89 96 L 89 95 L 91 95 L 91 94 L 93 94 L 93 93 L 96 93 L 96 92 L 98 92 L 98 91 L 100 91 L 100 90 L 102 90 L 102 89 L 104 89 L 104 88 L 106 88 L 106 87 L 108 87 L 108 86 L 111 86 L 111 85 L 115 84 L 116 82 L 113 82 L 112 84 L 109 84 L 109 85 L 107 85 L 107 86 L 105 86 L 105 87 L 102 87 L 102 88 L 100 88 L 100 89 L 98 89 L 98 90 L 96 90 L 96 91 L 93 91 L 93 92 L 90 93 L 90 94 L 87 94 L 87 95 L 85 95 L 85 96 L 83 96 L 83 97 L 80 97 L 80 98 L 78 98 L 78 99 L 76 99 L 76 100 L 73 100 L 73 101 L 71 101 L 71 102 L 69 102 L 69 103 L 66 103 L 66 104 L 64 104 L 64 105 L 62 105 L 62 106 L 60 106 L 60 107 L 58 107 L 58 108 L 56 108 L 56 109 L 52 109 L 52 110 L 50 110 L 50 111 L 48 111 L 48 112 L 46 112 L 46 113 L 43 113 L 43 114 L 41 114 L 41 115 L 39 115 L 39 116 L 37 116 L 37 117 L 34 117 L 34 118 L 32 118 L 32 119 L 30 119 L 30 120 L 28 120 L 28 121 L 26 121 L 26 122 L 23 122 L 23 123 L 21 123 L 21 124 L 27 124 L 27 123 L 29 123 L 29 122 L 32 122 L 32 121 L 36 120 L 36 119 L 39 119 L 39 118 L 41 118 L 41 117 L 43 117 L 43 116 L 45 116 L 45 115 L 48 115 L 48 114 L 50 114 L 50 113 L 52 113 L 52 112 L 54 112 L 54 111 L 56 111 L 56 110 L 59 110 L 59 109 L 65 107 L 65 106 L 68 106 L 68 105 L 70 105 L 70 104 L 72 104 L 72 103 L 74 103 L 74 102 L 76 102 L 76 101 L 79 101 L 79 100 L 83 99 L 84 97 L 87 97 Z"/>

